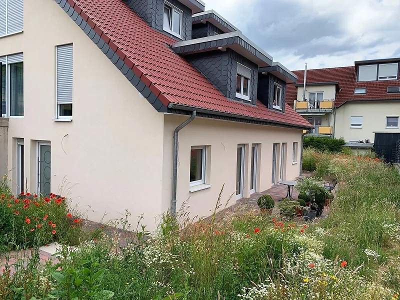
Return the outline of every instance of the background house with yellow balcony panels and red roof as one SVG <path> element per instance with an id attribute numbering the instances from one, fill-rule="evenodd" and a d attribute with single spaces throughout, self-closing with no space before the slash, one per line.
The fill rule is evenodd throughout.
<path id="1" fill-rule="evenodd" d="M 374 132 L 398 132 L 400 58 L 355 61 L 354 66 L 293 71 L 286 101 L 315 126 L 314 135 L 374 140 Z"/>

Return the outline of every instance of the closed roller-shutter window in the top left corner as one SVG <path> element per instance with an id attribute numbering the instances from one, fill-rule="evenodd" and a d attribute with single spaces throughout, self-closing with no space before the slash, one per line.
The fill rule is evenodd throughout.
<path id="1" fill-rule="evenodd" d="M 0 36 L 23 30 L 23 0 L 0 0 Z"/>

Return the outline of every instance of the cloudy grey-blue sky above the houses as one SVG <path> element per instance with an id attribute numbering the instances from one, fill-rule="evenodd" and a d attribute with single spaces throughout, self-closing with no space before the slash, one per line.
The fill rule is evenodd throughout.
<path id="1" fill-rule="evenodd" d="M 291 70 L 400 57 L 400 0 L 203 0 Z"/>

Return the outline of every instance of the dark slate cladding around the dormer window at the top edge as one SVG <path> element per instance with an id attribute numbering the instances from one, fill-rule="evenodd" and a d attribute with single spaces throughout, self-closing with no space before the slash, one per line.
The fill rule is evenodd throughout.
<path id="1" fill-rule="evenodd" d="M 179 40 L 178 37 L 163 31 L 164 0 L 124 0 L 151 27 Z M 182 10 L 182 40 L 191 39 L 191 9 L 177 0 L 168 0 L 173 6 Z"/>

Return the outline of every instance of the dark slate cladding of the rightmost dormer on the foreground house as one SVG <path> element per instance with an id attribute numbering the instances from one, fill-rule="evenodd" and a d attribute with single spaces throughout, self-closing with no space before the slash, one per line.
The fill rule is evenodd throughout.
<path id="1" fill-rule="evenodd" d="M 280 109 L 275 109 L 272 107 L 273 103 L 273 85 L 277 83 L 282 87 L 282 104 Z M 258 76 L 258 88 L 257 88 L 257 98 L 269 109 L 284 112 L 284 106 L 286 103 L 286 81 L 276 77 L 271 73 L 265 75 L 259 74 Z"/>

